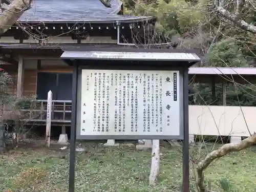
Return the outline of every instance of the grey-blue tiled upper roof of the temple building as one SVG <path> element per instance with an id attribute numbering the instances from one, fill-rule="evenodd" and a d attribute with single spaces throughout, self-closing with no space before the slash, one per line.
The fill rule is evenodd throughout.
<path id="1" fill-rule="evenodd" d="M 136 22 L 151 19 L 146 16 L 117 15 L 121 11 L 119 0 L 111 1 L 106 8 L 99 0 L 36 0 L 32 8 L 20 18 L 20 22 Z"/>

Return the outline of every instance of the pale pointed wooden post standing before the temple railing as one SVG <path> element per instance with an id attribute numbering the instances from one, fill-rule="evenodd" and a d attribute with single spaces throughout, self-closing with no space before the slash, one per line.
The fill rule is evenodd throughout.
<path id="1" fill-rule="evenodd" d="M 52 121 L 52 91 L 48 92 L 47 115 L 46 115 L 46 146 L 50 147 L 51 142 L 51 121 Z"/>

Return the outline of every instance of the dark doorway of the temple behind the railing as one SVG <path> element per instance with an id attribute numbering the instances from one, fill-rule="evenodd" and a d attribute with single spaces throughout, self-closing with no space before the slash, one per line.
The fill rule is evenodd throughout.
<path id="1" fill-rule="evenodd" d="M 53 100 L 72 100 L 72 73 L 39 72 L 37 75 L 37 99 L 47 100 L 50 90 Z"/>

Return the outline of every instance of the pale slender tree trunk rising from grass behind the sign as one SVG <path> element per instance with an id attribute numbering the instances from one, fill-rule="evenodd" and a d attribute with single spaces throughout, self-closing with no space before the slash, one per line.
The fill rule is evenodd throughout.
<path id="1" fill-rule="evenodd" d="M 152 140 L 152 161 L 150 172 L 150 185 L 156 185 L 158 182 L 160 168 L 160 146 L 159 140 Z"/>

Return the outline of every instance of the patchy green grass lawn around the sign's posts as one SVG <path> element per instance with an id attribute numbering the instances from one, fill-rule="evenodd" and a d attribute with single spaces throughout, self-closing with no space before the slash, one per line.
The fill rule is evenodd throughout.
<path id="1" fill-rule="evenodd" d="M 150 151 L 138 152 L 135 146 L 127 145 L 118 148 L 93 143 L 83 145 L 86 151 L 77 153 L 76 191 L 179 191 L 182 155 L 178 147 L 161 147 L 159 184 L 149 187 Z M 47 149 L 40 144 L 30 143 L 20 146 L 16 152 L 0 156 L 0 191 L 68 191 L 69 151 L 61 151 L 59 147 L 54 145 Z M 236 191 L 254 192 L 255 152 L 256 148 L 252 147 L 212 164 L 205 172 L 212 190 L 221 191 L 219 180 L 228 178 Z M 206 153 L 206 149 L 202 153 Z"/>

